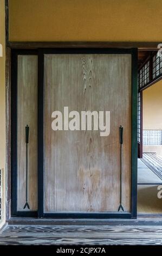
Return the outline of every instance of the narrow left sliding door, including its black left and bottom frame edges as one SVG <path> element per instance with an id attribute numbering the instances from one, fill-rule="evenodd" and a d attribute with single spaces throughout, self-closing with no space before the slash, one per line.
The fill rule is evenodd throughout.
<path id="1" fill-rule="evenodd" d="M 35 216 L 37 193 L 38 57 L 12 54 L 12 215 Z M 29 129 L 28 146 L 26 127 Z"/>

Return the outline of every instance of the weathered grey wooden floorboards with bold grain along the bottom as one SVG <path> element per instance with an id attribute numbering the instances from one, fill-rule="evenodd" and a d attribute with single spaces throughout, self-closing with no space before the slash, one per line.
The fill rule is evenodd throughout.
<path id="1" fill-rule="evenodd" d="M 162 225 L 8 225 L 0 245 L 162 245 Z"/>

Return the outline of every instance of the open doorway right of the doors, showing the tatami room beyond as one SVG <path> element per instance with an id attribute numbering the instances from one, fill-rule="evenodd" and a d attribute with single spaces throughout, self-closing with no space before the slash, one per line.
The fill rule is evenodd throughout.
<path id="1" fill-rule="evenodd" d="M 139 52 L 138 214 L 162 214 L 162 58 Z"/>

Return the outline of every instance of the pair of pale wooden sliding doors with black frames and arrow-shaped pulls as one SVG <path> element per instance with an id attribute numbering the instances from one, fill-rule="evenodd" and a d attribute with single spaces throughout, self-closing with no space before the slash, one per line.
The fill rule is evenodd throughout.
<path id="1" fill-rule="evenodd" d="M 137 51 L 13 50 L 11 75 L 12 216 L 134 218 Z"/>

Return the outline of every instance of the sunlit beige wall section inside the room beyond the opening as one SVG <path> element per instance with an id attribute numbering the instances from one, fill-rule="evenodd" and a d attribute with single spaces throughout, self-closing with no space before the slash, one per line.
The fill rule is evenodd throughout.
<path id="1" fill-rule="evenodd" d="M 162 130 L 162 80 L 143 91 L 143 129 Z"/>

